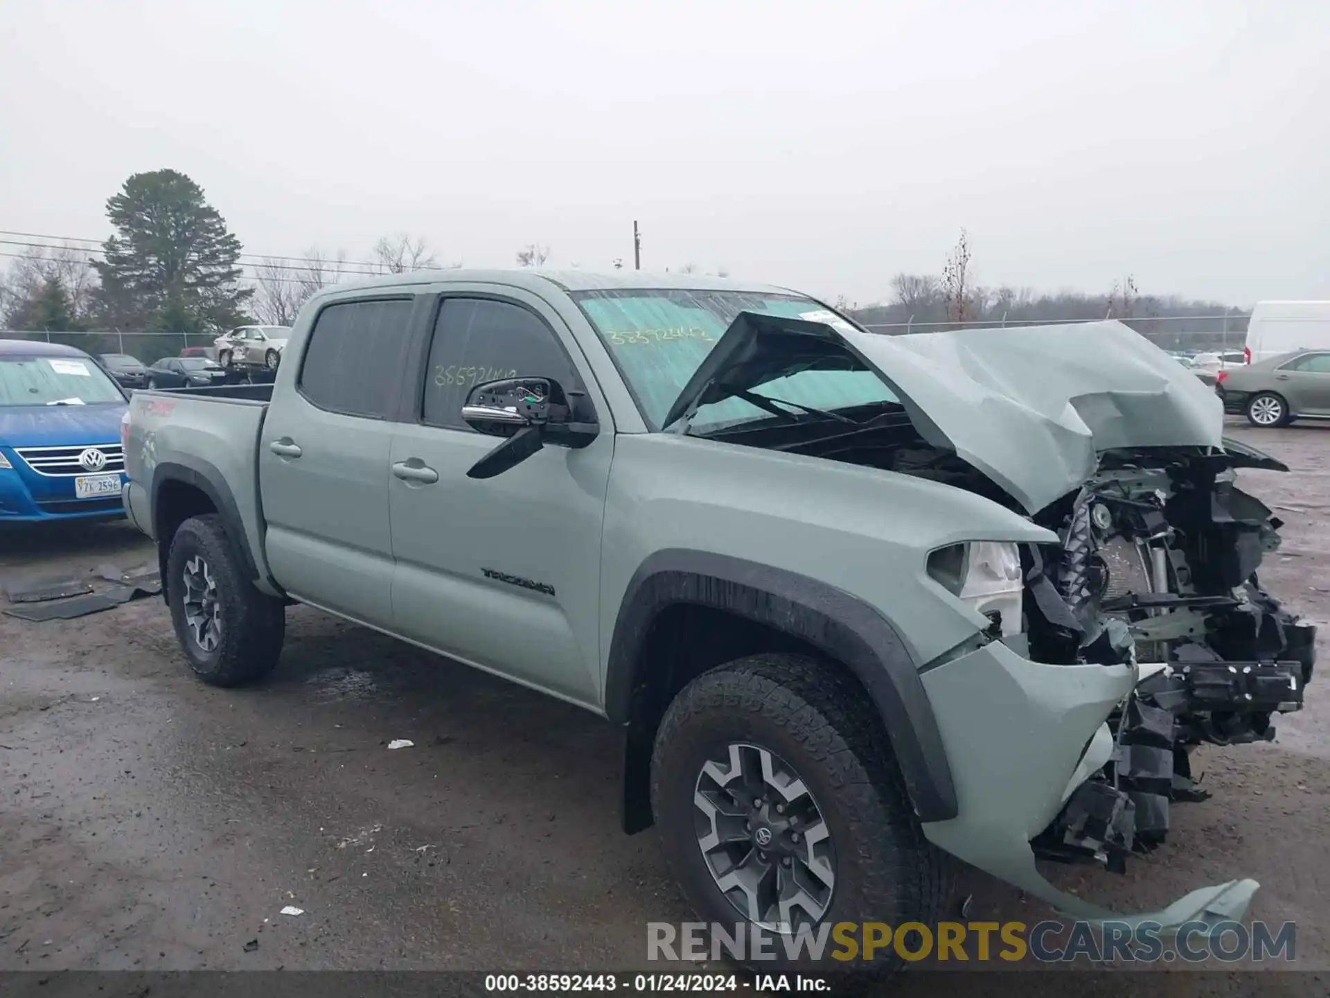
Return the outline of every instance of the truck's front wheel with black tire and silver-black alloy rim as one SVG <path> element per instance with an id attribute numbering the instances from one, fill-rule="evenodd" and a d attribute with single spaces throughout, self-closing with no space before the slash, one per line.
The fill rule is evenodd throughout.
<path id="1" fill-rule="evenodd" d="M 924 840 L 871 705 L 813 659 L 757 655 L 689 683 L 656 736 L 652 808 L 702 921 L 761 929 L 781 966 L 830 966 L 835 945 L 813 961 L 801 935 L 934 925 L 948 897 L 950 862 Z M 875 973 L 902 965 L 874 955 Z"/>

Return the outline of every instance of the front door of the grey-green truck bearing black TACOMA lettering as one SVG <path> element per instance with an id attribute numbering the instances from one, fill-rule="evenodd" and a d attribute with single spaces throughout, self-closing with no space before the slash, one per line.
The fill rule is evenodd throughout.
<path id="1" fill-rule="evenodd" d="M 571 343 L 536 295 L 442 299 L 420 411 L 392 439 L 392 609 L 406 637 L 598 707 L 600 544 L 614 434 Z M 589 391 L 600 436 L 580 450 L 547 446 L 491 479 L 467 478 L 500 443 L 462 420 L 468 390 L 520 375 Z"/>

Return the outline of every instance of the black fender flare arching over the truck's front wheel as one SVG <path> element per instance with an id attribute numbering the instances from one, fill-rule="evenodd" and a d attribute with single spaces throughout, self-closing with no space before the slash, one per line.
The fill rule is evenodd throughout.
<path id="1" fill-rule="evenodd" d="M 650 623 L 680 603 L 773 627 L 842 663 L 882 716 L 919 820 L 956 817 L 956 788 L 942 733 L 900 635 L 857 596 L 795 572 L 685 548 L 650 555 L 628 583 L 614 621 L 605 672 L 605 713 L 612 721 L 630 725 L 641 685 L 637 667 Z"/>

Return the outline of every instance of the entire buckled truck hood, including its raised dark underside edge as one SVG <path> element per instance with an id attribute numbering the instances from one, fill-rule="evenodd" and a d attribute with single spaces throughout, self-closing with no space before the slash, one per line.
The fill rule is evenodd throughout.
<path id="1" fill-rule="evenodd" d="M 1218 397 L 1116 321 L 890 337 L 830 311 L 741 313 L 665 424 L 799 370 L 846 367 L 874 370 L 928 443 L 955 451 L 1028 512 L 1079 488 L 1101 451 L 1222 448 Z"/>

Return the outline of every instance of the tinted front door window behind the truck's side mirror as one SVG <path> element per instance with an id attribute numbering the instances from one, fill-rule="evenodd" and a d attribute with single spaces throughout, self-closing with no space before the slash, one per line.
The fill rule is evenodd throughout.
<path id="1" fill-rule="evenodd" d="M 476 385 L 500 378 L 580 385 L 555 331 L 536 313 L 492 298 L 444 298 L 434 323 L 420 422 L 467 430 L 462 406 Z"/>

